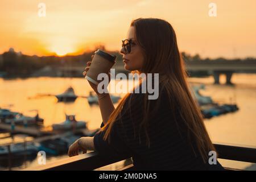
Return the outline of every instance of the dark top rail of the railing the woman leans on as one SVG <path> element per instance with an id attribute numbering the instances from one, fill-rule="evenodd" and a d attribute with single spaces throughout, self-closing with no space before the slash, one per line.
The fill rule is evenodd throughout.
<path id="1" fill-rule="evenodd" d="M 232 146 L 230 144 L 214 143 L 218 152 L 218 158 L 238 160 L 241 162 L 256 163 L 256 147 L 254 146 Z M 44 170 L 93 170 L 100 167 L 119 162 L 131 156 L 116 156 L 107 158 L 97 152 L 81 154 L 71 158 L 60 159 L 38 167 L 31 167 L 24 170 L 44 171 Z"/>

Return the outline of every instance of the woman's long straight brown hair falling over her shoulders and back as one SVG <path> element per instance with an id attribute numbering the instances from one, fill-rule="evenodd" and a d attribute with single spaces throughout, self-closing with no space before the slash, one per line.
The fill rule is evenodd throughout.
<path id="1" fill-rule="evenodd" d="M 138 18 L 133 20 L 130 26 L 135 27 L 137 41 L 143 49 L 144 65 L 140 73 L 159 73 L 159 85 L 163 85 L 168 94 L 170 111 L 172 111 L 171 116 L 174 119 L 176 118 L 174 110 L 178 106 L 180 117 L 188 128 L 188 137 L 189 139 L 195 139 L 195 147 L 206 162 L 208 152 L 216 150 L 205 128 L 199 106 L 193 100 L 189 89 L 187 72 L 177 46 L 174 28 L 166 20 L 157 18 Z M 123 105 L 128 101 L 129 95 L 130 93 L 127 93 L 122 98 L 117 108 L 110 115 L 106 125 L 102 127 L 101 130 L 106 130 L 105 140 L 110 138 L 113 124 L 117 121 L 117 117 L 121 113 Z M 144 106 L 144 119 L 141 122 L 141 127 L 146 131 L 147 143 L 150 146 L 147 126 L 148 113 L 151 113 L 151 111 L 149 110 L 147 97 L 145 97 L 144 103 L 146 103 L 146 106 Z M 159 106 L 159 104 L 157 105 Z M 158 108 L 158 106 L 155 108 Z M 195 150 L 193 151 L 195 152 Z"/>

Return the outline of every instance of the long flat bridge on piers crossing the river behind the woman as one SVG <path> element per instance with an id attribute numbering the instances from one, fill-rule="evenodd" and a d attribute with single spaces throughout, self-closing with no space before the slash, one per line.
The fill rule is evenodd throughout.
<path id="1" fill-rule="evenodd" d="M 114 65 L 116 73 L 129 73 L 123 68 L 122 61 Z M 209 75 L 213 75 L 214 84 L 220 84 L 220 75 L 226 75 L 226 84 L 232 84 L 231 78 L 233 73 L 256 73 L 256 61 L 185 61 L 185 66 L 188 72 L 207 71 Z M 56 71 L 58 75 L 81 76 L 85 67 L 58 67 Z"/>

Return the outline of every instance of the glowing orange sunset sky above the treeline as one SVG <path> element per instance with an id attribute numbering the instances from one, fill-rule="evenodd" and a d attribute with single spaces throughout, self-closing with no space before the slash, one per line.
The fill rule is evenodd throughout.
<path id="1" fill-rule="evenodd" d="M 38 16 L 39 3 L 46 16 Z M 217 5 L 210 17 L 209 3 Z M 180 51 L 202 57 L 256 57 L 255 0 L 1 0 L 0 53 L 79 54 L 95 44 L 119 50 L 131 20 L 162 18 L 174 27 Z"/>

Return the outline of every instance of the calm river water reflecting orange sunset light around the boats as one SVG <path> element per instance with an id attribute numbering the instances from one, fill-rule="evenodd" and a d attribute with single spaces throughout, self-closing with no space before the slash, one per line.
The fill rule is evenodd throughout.
<path id="1" fill-rule="evenodd" d="M 236 113 L 205 119 L 213 142 L 256 146 L 256 75 L 234 74 L 233 86 L 224 84 L 225 76 L 220 77 L 221 85 L 213 85 L 211 76 L 189 78 L 189 82 L 191 85 L 205 84 L 205 90 L 200 93 L 212 97 L 213 101 L 220 104 L 236 103 L 240 108 Z M 53 123 L 63 122 L 64 113 L 75 114 L 77 121 L 87 121 L 89 129 L 100 127 L 100 108 L 97 105 L 90 106 L 86 98 L 78 97 L 70 104 L 57 102 L 53 95 L 63 93 L 68 86 L 72 86 L 78 96 L 88 96 L 92 90 L 84 78 L 0 78 L 0 107 L 31 116 L 35 115 L 35 111 L 31 110 L 38 110 L 48 129 Z M 43 96 L 47 94 L 52 96 Z M 221 160 L 221 163 L 237 168 L 250 166 L 250 163 L 228 160 Z"/>

